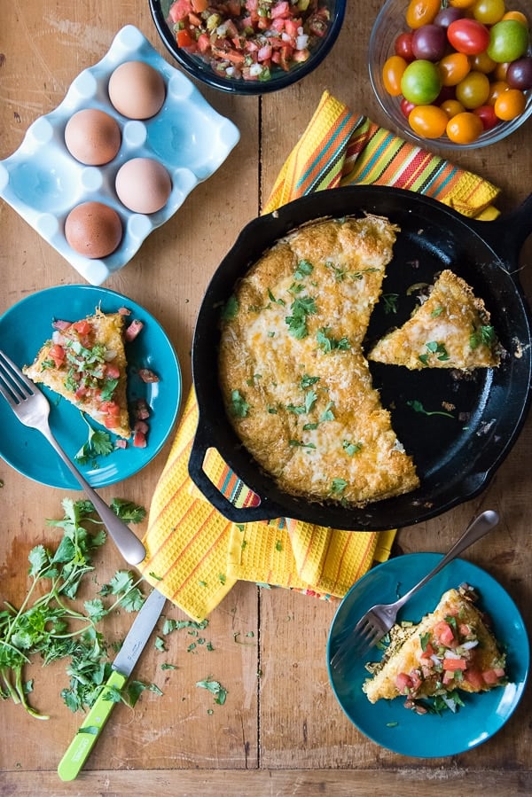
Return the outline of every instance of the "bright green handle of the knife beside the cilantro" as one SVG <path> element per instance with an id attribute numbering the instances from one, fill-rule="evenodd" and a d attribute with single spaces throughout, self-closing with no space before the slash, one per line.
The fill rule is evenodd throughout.
<path id="1" fill-rule="evenodd" d="M 90 751 L 96 744 L 100 731 L 113 711 L 115 704 L 113 700 L 106 700 L 106 687 L 120 692 L 127 680 L 117 670 L 113 670 L 107 678 L 106 685 L 102 689 L 98 700 L 90 708 L 89 714 L 83 720 L 79 731 L 77 731 L 65 755 L 59 762 L 58 775 L 61 780 L 74 780 L 79 775 L 83 764 L 89 758 Z M 90 729 L 90 731 L 83 732 L 83 728 Z"/>

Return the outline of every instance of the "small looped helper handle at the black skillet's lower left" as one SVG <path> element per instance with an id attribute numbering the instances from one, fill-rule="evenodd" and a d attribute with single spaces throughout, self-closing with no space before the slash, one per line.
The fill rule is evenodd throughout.
<path id="1" fill-rule="evenodd" d="M 208 426 L 201 422 L 200 418 L 194 440 L 192 441 L 188 470 L 192 481 L 207 498 L 209 504 L 212 504 L 218 512 L 221 512 L 228 520 L 232 520 L 233 523 L 249 523 L 253 520 L 274 520 L 275 518 L 282 517 L 283 512 L 278 506 L 272 504 L 270 501 L 264 501 L 264 499 L 259 496 L 257 497 L 260 503 L 256 506 L 239 507 L 235 506 L 235 504 L 231 504 L 231 501 L 220 492 L 203 469 L 203 462 L 207 454 L 207 449 L 214 448 L 213 441 L 214 435 L 210 432 Z"/>

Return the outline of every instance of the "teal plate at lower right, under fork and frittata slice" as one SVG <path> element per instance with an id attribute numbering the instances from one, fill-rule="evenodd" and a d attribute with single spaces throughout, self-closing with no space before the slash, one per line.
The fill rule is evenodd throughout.
<path id="1" fill-rule="evenodd" d="M 343 635 L 352 629 L 370 606 L 391 603 L 410 590 L 442 559 L 439 553 L 412 553 L 390 559 L 364 575 L 348 591 L 332 621 L 327 643 L 327 662 L 338 649 Z M 379 660 L 373 648 L 364 658 L 351 660 L 340 672 L 329 664 L 332 690 L 349 720 L 359 731 L 382 747 L 416 758 L 435 758 L 464 753 L 487 741 L 512 715 L 524 691 L 530 651 L 527 630 L 512 598 L 480 567 L 455 559 L 434 576 L 399 613 L 398 621 L 418 622 L 432 612 L 443 592 L 468 583 L 480 594 L 479 606 L 489 614 L 496 637 L 507 654 L 510 683 L 490 692 L 462 692 L 465 706 L 456 714 L 417 715 L 404 708 L 404 698 L 370 703 L 362 691 L 369 677 L 364 665 Z"/>

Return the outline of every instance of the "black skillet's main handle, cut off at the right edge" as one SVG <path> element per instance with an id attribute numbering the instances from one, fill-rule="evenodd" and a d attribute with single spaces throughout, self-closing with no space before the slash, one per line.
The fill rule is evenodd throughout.
<path id="1" fill-rule="evenodd" d="M 517 269 L 521 247 L 532 234 L 532 193 L 510 213 L 501 215 L 493 222 L 473 220 L 471 226 L 501 260 Z"/>

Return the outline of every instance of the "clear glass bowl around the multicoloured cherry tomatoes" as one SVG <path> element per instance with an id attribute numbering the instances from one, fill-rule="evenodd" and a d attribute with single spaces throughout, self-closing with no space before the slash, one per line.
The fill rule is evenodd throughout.
<path id="1" fill-rule="evenodd" d="M 447 136 L 424 138 L 420 137 L 411 129 L 407 118 L 401 110 L 402 98 L 392 97 L 388 94 L 382 78 L 382 67 L 385 61 L 395 53 L 395 38 L 400 33 L 409 30 L 405 21 L 405 12 L 408 6 L 409 0 L 387 0 L 387 3 L 383 5 L 375 20 L 369 44 L 369 70 L 372 88 L 379 100 L 379 105 L 381 105 L 384 112 L 387 113 L 390 121 L 394 123 L 395 128 L 402 131 L 403 137 L 409 138 L 420 146 L 428 146 L 430 148 L 442 147 L 449 150 L 466 150 L 478 149 L 481 146 L 496 144 L 497 141 L 502 141 L 503 138 L 510 136 L 515 130 L 519 129 L 532 114 L 532 90 L 525 92 L 527 103 L 524 112 L 521 113 L 520 116 L 512 121 L 500 121 L 496 127 L 484 130 L 471 144 L 456 144 Z M 532 22 L 529 0 L 508 0 L 506 11 L 523 12 L 528 16 L 528 20 Z M 529 43 L 528 55 L 530 54 L 532 54 L 532 48 Z"/>

